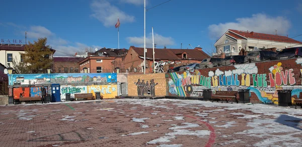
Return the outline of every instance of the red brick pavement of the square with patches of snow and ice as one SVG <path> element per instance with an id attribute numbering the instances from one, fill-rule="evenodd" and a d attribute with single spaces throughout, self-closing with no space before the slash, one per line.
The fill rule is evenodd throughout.
<path id="1" fill-rule="evenodd" d="M 167 99 L 0 106 L 0 142 L 1 146 L 300 146 L 301 112 L 262 104 Z"/>

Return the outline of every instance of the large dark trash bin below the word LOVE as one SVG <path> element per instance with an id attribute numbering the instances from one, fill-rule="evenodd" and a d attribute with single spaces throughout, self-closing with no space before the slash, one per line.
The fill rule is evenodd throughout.
<path id="1" fill-rule="evenodd" d="M 278 91 L 278 106 L 291 106 L 291 90 Z"/>

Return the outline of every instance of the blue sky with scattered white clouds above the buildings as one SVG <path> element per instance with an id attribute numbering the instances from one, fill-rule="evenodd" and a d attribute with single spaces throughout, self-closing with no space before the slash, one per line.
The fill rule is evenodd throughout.
<path id="1" fill-rule="evenodd" d="M 147 0 L 146 9 L 168 0 Z M 85 47 L 143 47 L 143 0 L 2 1 L 0 39 L 34 41 L 47 37 L 56 56 L 71 56 Z M 302 2 L 172 0 L 146 12 L 146 44 L 157 48 L 203 48 L 212 52 L 228 29 L 288 35 L 302 34 Z M 302 41 L 302 36 L 294 38 Z"/>

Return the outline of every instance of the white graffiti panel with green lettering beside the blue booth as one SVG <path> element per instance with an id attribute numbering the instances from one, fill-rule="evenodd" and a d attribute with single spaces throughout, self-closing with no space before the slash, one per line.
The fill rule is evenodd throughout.
<path id="1" fill-rule="evenodd" d="M 65 101 L 66 93 L 70 93 L 70 97 L 74 98 L 75 93 L 87 93 L 87 86 L 71 86 L 71 85 L 61 85 L 61 101 Z"/>

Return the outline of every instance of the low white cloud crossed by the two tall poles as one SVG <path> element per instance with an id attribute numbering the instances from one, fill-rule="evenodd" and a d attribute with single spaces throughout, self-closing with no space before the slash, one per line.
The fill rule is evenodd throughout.
<path id="1" fill-rule="evenodd" d="M 143 46 L 143 36 L 142 37 L 127 37 L 128 43 Z M 154 34 L 154 44 L 157 44 L 157 46 L 164 46 L 164 45 L 174 45 L 174 39 L 172 37 L 164 37 L 162 35 L 159 35 L 157 33 Z M 146 36 L 146 47 L 153 47 L 153 41 L 152 41 L 152 33 L 150 33 L 148 36 Z"/>

